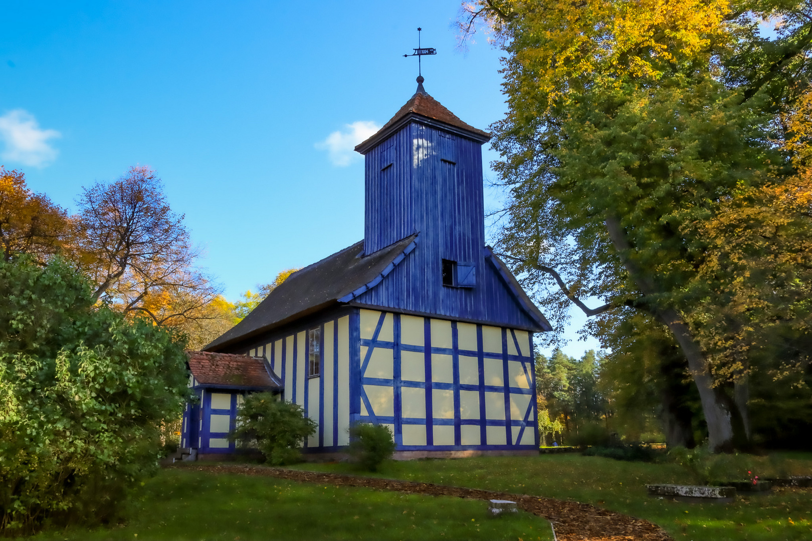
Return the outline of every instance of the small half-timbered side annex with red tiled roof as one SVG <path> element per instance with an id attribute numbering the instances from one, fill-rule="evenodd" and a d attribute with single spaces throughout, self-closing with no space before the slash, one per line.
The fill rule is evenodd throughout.
<path id="1" fill-rule="evenodd" d="M 187 404 L 180 447 L 197 449 L 197 457 L 233 453 L 227 438 L 246 393 L 282 391 L 282 381 L 265 359 L 246 355 L 188 351 L 189 387 L 197 401 Z"/>

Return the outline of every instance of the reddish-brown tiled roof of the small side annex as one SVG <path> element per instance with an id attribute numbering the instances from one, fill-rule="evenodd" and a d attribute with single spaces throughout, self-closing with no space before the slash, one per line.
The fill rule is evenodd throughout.
<path id="1" fill-rule="evenodd" d="M 265 359 L 206 351 L 187 351 L 186 354 L 192 376 L 204 387 L 256 390 L 283 387 L 282 380 Z"/>

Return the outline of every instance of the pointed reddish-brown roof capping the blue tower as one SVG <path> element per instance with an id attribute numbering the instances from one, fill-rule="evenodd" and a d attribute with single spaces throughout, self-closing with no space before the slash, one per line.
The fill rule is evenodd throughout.
<path id="1" fill-rule="evenodd" d="M 448 109 L 443 107 L 439 101 L 430 97 L 428 92 L 423 89 L 422 77 L 417 78 L 417 92 L 414 93 L 409 101 L 395 113 L 389 122 L 383 125 L 374 135 L 369 139 L 363 141 L 356 146 L 356 152 L 365 154 L 375 144 L 378 144 L 383 139 L 386 139 L 392 132 L 397 131 L 406 122 L 412 118 L 428 118 L 440 122 L 440 127 L 450 129 L 458 135 L 463 135 L 469 139 L 473 139 L 478 143 L 486 143 L 490 140 L 490 134 L 487 131 L 479 130 L 469 124 L 466 124 L 456 114 L 451 113 Z M 433 122 L 428 122 L 433 123 Z"/>

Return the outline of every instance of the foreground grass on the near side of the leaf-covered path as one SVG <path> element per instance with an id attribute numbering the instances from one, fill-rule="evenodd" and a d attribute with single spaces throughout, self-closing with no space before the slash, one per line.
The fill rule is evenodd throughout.
<path id="1" fill-rule="evenodd" d="M 123 525 L 29 539 L 552 539 L 540 517 L 486 510 L 478 500 L 171 469 L 136 493 Z"/>

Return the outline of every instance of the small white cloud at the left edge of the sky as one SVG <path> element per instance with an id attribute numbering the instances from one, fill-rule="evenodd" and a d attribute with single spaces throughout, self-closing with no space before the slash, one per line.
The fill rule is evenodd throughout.
<path id="1" fill-rule="evenodd" d="M 14 109 L 0 117 L 0 140 L 6 144 L 0 157 L 4 161 L 45 167 L 58 154 L 48 141 L 61 135 L 56 130 L 41 129 L 37 118 L 28 111 Z"/>

